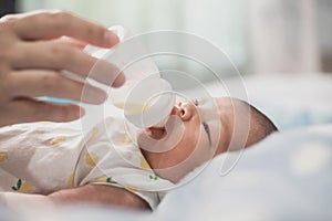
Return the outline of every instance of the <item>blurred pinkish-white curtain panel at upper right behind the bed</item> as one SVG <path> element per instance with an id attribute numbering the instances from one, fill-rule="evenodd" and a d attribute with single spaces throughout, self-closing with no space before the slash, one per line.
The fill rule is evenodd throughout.
<path id="1" fill-rule="evenodd" d="M 314 0 L 250 0 L 256 73 L 320 71 Z"/>

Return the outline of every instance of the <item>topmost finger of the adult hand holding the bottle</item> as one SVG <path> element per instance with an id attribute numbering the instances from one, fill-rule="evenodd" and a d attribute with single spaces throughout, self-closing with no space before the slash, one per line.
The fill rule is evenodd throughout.
<path id="1" fill-rule="evenodd" d="M 113 46 L 118 38 L 106 28 L 63 11 L 38 11 L 12 20 L 14 32 L 24 40 L 72 36 L 98 46 Z"/>

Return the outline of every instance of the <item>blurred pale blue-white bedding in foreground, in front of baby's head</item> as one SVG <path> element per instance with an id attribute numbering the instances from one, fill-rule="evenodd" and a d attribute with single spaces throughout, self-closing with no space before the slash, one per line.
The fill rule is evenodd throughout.
<path id="1" fill-rule="evenodd" d="M 332 220 L 332 124 L 274 134 L 225 177 L 216 158 L 166 196 L 158 220 Z"/>

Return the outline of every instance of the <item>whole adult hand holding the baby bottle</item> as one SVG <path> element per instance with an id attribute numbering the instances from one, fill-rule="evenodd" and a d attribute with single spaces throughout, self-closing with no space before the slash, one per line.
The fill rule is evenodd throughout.
<path id="1" fill-rule="evenodd" d="M 66 36 L 66 38 L 63 38 Z M 82 52 L 86 44 L 112 48 L 117 36 L 98 24 L 61 11 L 11 14 L 0 19 L 0 126 L 37 120 L 69 122 L 80 118 L 77 105 L 56 105 L 34 99 L 54 96 L 100 104 L 106 93 L 62 75 L 69 71 L 87 77 L 97 60 Z M 102 62 L 94 78 L 121 86 L 118 69 Z M 120 73 L 120 74 L 118 74 Z M 112 80 L 112 81 L 110 81 Z M 110 83 L 111 82 L 111 83 Z"/>

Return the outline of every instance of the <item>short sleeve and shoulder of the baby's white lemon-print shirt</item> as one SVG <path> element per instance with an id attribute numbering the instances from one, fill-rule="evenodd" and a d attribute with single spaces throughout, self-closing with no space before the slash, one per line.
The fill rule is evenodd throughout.
<path id="1" fill-rule="evenodd" d="M 80 177 L 80 186 L 102 183 L 124 188 L 144 199 L 152 209 L 157 207 L 164 191 L 175 187 L 155 175 L 128 137 L 124 120 L 114 118 L 107 118 L 91 130 L 77 172 L 84 175 Z"/>

